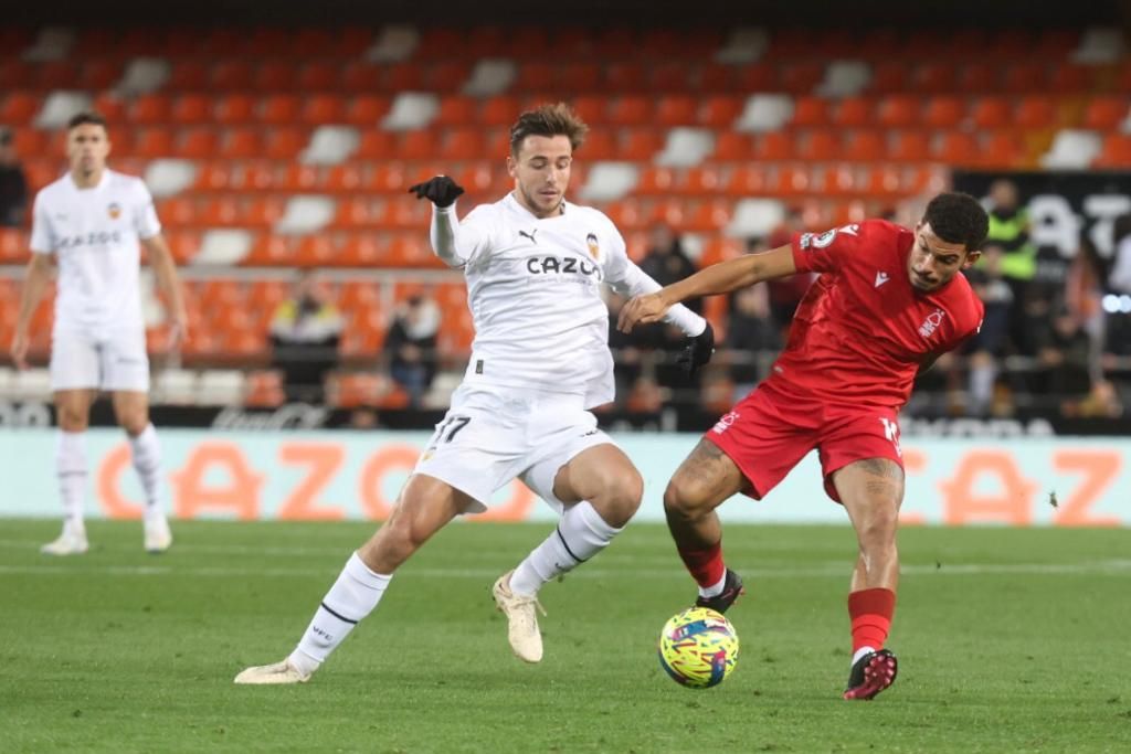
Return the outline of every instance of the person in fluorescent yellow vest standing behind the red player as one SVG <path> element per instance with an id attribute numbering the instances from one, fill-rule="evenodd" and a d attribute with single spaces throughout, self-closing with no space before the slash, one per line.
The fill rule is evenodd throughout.
<path id="1" fill-rule="evenodd" d="M 1029 240 L 1029 214 L 1021 206 L 1017 184 L 1009 179 L 999 179 L 990 185 L 990 235 L 987 245 L 1001 248 L 1001 276 L 1013 292 L 1010 310 L 1009 336 L 1018 350 L 1033 354 L 1030 343 L 1030 300 L 1038 292 L 1033 291 L 1033 278 L 1037 274 L 1037 248 Z M 985 262 L 983 262 L 985 263 Z"/>

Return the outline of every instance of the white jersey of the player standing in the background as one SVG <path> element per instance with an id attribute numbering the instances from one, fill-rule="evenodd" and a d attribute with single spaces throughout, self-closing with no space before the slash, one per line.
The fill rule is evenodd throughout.
<path id="1" fill-rule="evenodd" d="M 32 252 L 55 254 L 55 329 L 140 328 L 139 239 L 161 233 L 145 182 L 105 171 L 79 189 L 70 173 L 35 197 Z"/>

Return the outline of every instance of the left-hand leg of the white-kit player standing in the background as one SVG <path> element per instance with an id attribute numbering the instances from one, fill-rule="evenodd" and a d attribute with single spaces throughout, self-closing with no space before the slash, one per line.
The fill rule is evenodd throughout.
<path id="1" fill-rule="evenodd" d="M 88 548 L 86 539 L 87 460 L 86 428 L 95 392 L 89 389 L 57 390 L 55 419 L 59 424 L 55 444 L 55 476 L 63 503 L 63 528 L 59 538 L 41 548 L 46 555 L 80 555 Z"/>

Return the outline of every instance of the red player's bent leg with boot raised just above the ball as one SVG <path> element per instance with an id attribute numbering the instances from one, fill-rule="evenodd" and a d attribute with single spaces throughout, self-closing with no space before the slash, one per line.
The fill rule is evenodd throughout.
<path id="1" fill-rule="evenodd" d="M 742 579 L 723 561 L 723 525 L 715 509 L 752 492 L 739 466 L 709 440 L 700 440 L 664 491 L 664 514 L 675 549 L 699 584 L 696 604 L 720 613 L 742 593 Z"/>

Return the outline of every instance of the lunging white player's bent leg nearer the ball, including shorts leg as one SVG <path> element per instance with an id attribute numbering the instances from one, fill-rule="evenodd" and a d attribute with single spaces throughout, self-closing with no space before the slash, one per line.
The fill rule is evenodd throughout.
<path id="1" fill-rule="evenodd" d="M 595 426 L 596 419 L 592 423 Z M 573 436 L 576 442 L 559 448 L 521 475 L 527 486 L 561 512 L 558 527 L 492 589 L 495 604 L 507 615 L 510 647 L 527 662 L 542 659 L 535 613 L 542 608 L 538 590 L 607 547 L 644 495 L 640 473 L 607 435 L 586 428 Z"/>

